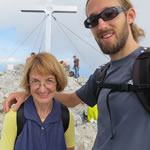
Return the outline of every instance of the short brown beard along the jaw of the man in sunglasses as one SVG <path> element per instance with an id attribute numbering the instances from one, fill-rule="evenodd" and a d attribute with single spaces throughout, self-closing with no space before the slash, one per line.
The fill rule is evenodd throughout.
<path id="1" fill-rule="evenodd" d="M 124 24 L 121 32 L 119 33 L 118 39 L 116 39 L 116 43 L 107 44 L 107 43 L 101 42 L 100 40 L 96 40 L 96 41 L 104 54 L 112 55 L 121 51 L 121 49 L 126 44 L 128 36 L 129 36 L 129 29 L 128 29 L 127 24 Z"/>

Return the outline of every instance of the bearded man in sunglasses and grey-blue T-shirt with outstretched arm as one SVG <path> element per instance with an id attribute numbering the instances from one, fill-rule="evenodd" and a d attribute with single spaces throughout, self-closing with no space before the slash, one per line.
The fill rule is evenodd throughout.
<path id="1" fill-rule="evenodd" d="M 130 83 L 135 58 L 144 49 L 138 43 L 144 31 L 134 24 L 136 13 L 130 0 L 88 0 L 86 13 L 85 26 L 91 28 L 101 50 L 111 59 L 104 82 Z M 111 89 L 103 88 L 97 101 L 98 71 L 76 92 L 55 97 L 69 107 L 81 100 L 89 106 L 97 104 L 98 133 L 93 150 L 149 150 L 150 114 L 134 92 L 111 93 Z M 10 97 L 17 99 L 17 94 Z M 7 109 L 11 101 L 5 101 Z"/>

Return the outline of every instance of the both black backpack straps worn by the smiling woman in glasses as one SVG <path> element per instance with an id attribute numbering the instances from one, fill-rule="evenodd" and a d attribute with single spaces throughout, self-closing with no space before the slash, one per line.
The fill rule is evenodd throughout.
<path id="1" fill-rule="evenodd" d="M 62 117 L 62 122 L 63 122 L 64 133 L 65 133 L 66 130 L 68 129 L 69 121 L 70 121 L 69 110 L 63 104 L 61 104 L 61 110 L 62 110 L 61 117 Z M 25 122 L 26 122 L 26 118 L 24 117 L 24 103 L 23 103 L 20 106 L 20 108 L 17 110 L 17 137 L 22 132 Z"/>

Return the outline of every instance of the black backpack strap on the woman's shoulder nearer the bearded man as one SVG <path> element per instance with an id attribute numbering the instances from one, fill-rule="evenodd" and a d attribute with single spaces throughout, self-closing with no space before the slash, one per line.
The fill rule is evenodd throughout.
<path id="1" fill-rule="evenodd" d="M 62 117 L 62 122 L 63 122 L 63 127 L 64 127 L 64 133 L 65 133 L 69 127 L 69 121 L 70 121 L 69 110 L 63 104 L 61 104 L 61 110 L 62 110 L 61 117 Z"/>

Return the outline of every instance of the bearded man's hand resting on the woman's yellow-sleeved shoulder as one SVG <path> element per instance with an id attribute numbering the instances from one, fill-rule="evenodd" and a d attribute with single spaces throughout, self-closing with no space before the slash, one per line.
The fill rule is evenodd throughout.
<path id="1" fill-rule="evenodd" d="M 15 104 L 13 110 L 17 111 L 28 96 L 26 92 L 11 93 L 3 102 L 4 112 L 8 112 L 13 104 Z"/>

